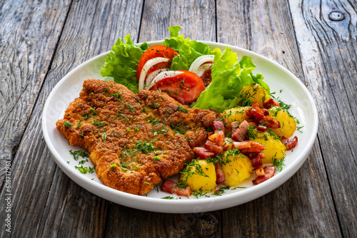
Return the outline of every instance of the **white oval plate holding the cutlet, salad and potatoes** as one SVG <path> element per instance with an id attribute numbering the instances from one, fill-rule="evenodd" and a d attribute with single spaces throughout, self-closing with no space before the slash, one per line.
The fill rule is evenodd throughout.
<path id="1" fill-rule="evenodd" d="M 227 46 L 221 43 L 202 42 L 208 43 L 211 48 L 218 47 L 221 50 Z M 162 41 L 152 41 L 149 42 L 149 46 L 160 43 Z M 303 83 L 286 68 L 257 53 L 236 46 L 229 47 L 233 52 L 238 53 L 238 59 L 243 55 L 251 56 L 253 63 L 256 64 L 256 69 L 253 73 L 261 73 L 265 78 L 265 82 L 270 86 L 271 92 L 275 91 L 275 96 L 279 96 L 285 103 L 291 104 L 291 114 L 295 115 L 300 121 L 298 126 L 303 126 L 301 129 L 303 133 L 296 132 L 298 146 L 293 149 L 293 152 L 286 153 L 285 166 L 282 172 L 277 172 L 270 180 L 256 186 L 252 185 L 251 180 L 255 177 L 255 175 L 252 175 L 250 180 L 246 180 L 239 185 L 239 187 L 246 188 L 226 190 L 221 196 L 211 195 L 210 197 L 200 197 L 199 199 L 193 196 L 178 198 L 176 195 L 169 195 L 166 192 L 159 191 L 157 187 L 146 196 L 131 195 L 106 187 L 99 181 L 95 173 L 81 174 L 74 167 L 75 165 L 78 166 L 78 161 L 75 161 L 73 156 L 69 154 L 69 150 L 79 150 L 79 148 L 74 148 L 67 143 L 56 129 L 56 121 L 63 118 L 64 110 L 66 110 L 69 103 L 79 96 L 82 84 L 86 79 L 104 79 L 100 76 L 100 71 L 109 51 L 74 68 L 59 81 L 46 101 L 44 114 L 42 115 L 42 130 L 46 144 L 57 165 L 71 180 L 74 180 L 78 185 L 93 192 L 95 195 L 120 205 L 151 212 L 193 213 L 224 209 L 255 200 L 282 185 L 301 167 L 311 152 L 318 129 L 316 105 Z M 92 165 L 91 162 L 86 162 L 84 166 Z M 174 200 L 161 199 L 161 197 L 166 196 L 174 197 Z"/>

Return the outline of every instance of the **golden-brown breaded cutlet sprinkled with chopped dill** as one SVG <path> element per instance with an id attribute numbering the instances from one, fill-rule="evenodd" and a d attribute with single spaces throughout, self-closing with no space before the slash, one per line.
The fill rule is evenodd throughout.
<path id="1" fill-rule="evenodd" d="M 203 145 L 215 118 L 166 93 L 136 95 L 121 84 L 89 79 L 56 126 L 70 145 L 89 152 L 104 185 L 145 195 L 192 160 L 191 148 Z"/>

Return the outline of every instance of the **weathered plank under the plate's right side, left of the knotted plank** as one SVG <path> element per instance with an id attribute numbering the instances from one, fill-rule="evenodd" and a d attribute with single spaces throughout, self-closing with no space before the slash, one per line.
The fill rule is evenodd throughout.
<path id="1" fill-rule="evenodd" d="M 219 42 L 271 58 L 304 81 L 286 1 L 218 1 L 217 15 L 224 16 L 217 22 Z M 222 217 L 223 237 L 340 236 L 318 142 L 288 182 L 258 200 L 226 209 Z M 228 220 L 236 229 L 229 229 Z"/>

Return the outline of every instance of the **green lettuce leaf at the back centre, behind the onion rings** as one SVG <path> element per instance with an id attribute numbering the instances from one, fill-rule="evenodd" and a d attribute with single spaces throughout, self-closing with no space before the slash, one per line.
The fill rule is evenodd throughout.
<path id="1" fill-rule="evenodd" d="M 188 71 L 191 63 L 193 63 L 196 58 L 203 55 L 213 55 L 216 52 L 216 50 L 212 51 L 206 43 L 191 41 L 190 38 L 184 38 L 183 35 L 178 35 L 180 29 L 180 26 L 170 26 L 169 31 L 171 37 L 166 38 L 164 41 L 164 46 L 173 48 L 179 53 L 179 55 L 175 56 L 172 60 L 171 71 Z"/>

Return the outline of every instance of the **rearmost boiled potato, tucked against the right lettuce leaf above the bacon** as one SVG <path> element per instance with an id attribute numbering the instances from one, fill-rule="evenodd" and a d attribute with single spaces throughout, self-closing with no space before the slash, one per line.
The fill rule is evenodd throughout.
<path id="1" fill-rule="evenodd" d="M 263 108 L 263 103 L 270 99 L 268 92 L 258 83 L 246 84 L 241 88 L 239 93 L 242 98 L 248 98 L 252 100 L 253 103 L 258 103 L 261 108 Z"/>

